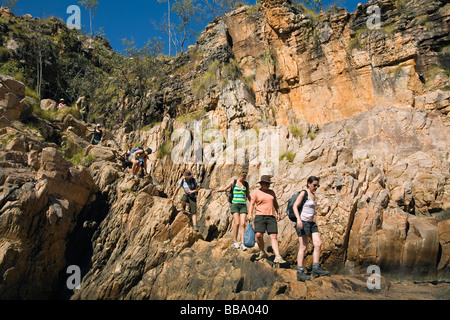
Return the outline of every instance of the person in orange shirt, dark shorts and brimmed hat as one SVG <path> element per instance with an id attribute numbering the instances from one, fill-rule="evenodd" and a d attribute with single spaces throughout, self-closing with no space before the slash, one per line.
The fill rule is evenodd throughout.
<path id="1" fill-rule="evenodd" d="M 259 247 L 259 256 L 257 260 L 267 258 L 264 250 L 264 232 L 270 236 L 272 248 L 275 253 L 275 263 L 285 263 L 286 261 L 280 256 L 278 249 L 278 221 L 280 221 L 280 208 L 278 206 L 275 192 L 269 189 L 270 176 L 262 176 L 259 184 L 261 188 L 253 191 L 250 202 L 250 210 L 248 219 L 255 221 L 256 243 Z M 255 210 L 255 218 L 253 219 L 253 210 Z"/>

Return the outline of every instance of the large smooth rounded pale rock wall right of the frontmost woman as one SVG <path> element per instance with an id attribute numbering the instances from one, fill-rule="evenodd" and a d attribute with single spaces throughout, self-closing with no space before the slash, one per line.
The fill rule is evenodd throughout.
<path id="1" fill-rule="evenodd" d="M 434 213 L 449 206 L 442 132 L 448 129 L 439 116 L 404 109 L 374 108 L 329 123 L 298 150 L 294 165 L 281 168 L 279 193 L 284 198 L 309 175 L 321 177 L 319 227 L 330 263 L 427 276 L 437 271 L 440 250 Z"/>

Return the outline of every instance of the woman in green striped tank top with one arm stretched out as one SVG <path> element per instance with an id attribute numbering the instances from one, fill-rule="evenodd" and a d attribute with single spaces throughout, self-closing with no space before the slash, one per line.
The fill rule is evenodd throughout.
<path id="1" fill-rule="evenodd" d="M 250 190 L 247 181 L 247 172 L 242 171 L 237 180 L 231 180 L 224 188 L 212 191 L 212 194 L 223 192 L 233 188 L 233 200 L 231 201 L 231 214 L 233 215 L 233 244 L 236 249 L 247 250 L 244 246 L 245 221 L 247 220 L 247 199 L 250 201 Z M 238 233 L 240 231 L 240 243 Z"/>

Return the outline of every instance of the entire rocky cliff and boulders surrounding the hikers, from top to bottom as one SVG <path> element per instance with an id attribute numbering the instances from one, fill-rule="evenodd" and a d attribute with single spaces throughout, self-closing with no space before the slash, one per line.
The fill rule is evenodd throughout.
<path id="1" fill-rule="evenodd" d="M 71 115 L 42 120 L 52 134 L 37 134 L 12 116 L 23 113 L 23 84 L 2 83 L 0 295 L 448 299 L 446 283 L 396 281 L 449 279 L 449 7 L 374 3 L 381 30 L 364 27 L 369 4 L 314 16 L 266 0 L 216 19 L 149 91 L 147 117 L 161 122 L 114 128 L 105 146 L 90 146 Z M 155 151 L 150 175 L 120 170 L 125 143 Z M 77 150 L 83 165 L 62 157 Z M 227 197 L 211 194 L 243 167 L 252 190 L 261 174 L 273 175 L 281 269 L 273 257 L 255 261 L 256 248 L 232 247 Z M 185 169 L 202 186 L 198 232 L 179 199 L 168 200 Z M 335 275 L 300 283 L 284 212 L 310 175 L 321 178 L 321 263 Z M 308 267 L 311 255 L 310 247 Z M 66 287 L 69 265 L 81 268 L 80 289 Z M 376 292 L 367 288 L 370 265 L 381 270 Z"/>

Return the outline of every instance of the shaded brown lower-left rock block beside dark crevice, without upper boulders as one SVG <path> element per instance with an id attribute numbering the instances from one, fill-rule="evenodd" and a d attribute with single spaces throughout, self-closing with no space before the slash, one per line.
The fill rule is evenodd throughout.
<path id="1" fill-rule="evenodd" d="M 0 168 L 0 295 L 50 297 L 66 266 L 65 250 L 77 214 L 97 187 L 89 172 L 44 148 L 41 165 Z"/>

